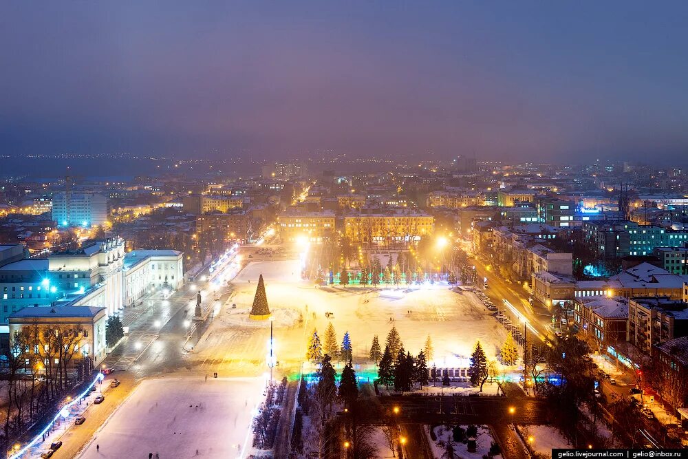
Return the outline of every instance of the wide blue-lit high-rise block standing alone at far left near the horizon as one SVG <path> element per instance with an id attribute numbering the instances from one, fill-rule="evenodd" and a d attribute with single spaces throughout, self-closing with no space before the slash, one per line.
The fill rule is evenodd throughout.
<path id="1" fill-rule="evenodd" d="M 56 193 L 52 198 L 52 220 L 58 226 L 102 225 L 107 222 L 107 198 L 98 193 Z"/>

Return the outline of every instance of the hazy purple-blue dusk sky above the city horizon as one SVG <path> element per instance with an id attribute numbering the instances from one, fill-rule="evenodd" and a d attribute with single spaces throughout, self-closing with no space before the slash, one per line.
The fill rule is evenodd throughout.
<path id="1" fill-rule="evenodd" d="M 0 153 L 685 160 L 687 24 L 686 1 L 3 1 Z"/>

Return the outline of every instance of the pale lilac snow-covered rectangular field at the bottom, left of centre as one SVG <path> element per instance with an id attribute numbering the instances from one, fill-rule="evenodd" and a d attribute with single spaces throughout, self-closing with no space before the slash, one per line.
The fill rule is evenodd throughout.
<path id="1" fill-rule="evenodd" d="M 252 410 L 264 387 L 264 378 L 142 381 L 80 457 L 243 457 L 244 447 L 250 447 Z"/>

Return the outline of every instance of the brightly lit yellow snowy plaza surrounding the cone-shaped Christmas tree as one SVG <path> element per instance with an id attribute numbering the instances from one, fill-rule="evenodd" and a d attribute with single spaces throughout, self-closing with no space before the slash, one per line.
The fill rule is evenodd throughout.
<path id="1" fill-rule="evenodd" d="M 316 287 L 299 273 L 298 260 L 257 261 L 241 270 L 232 281 L 230 299 L 189 355 L 196 368 L 223 376 L 257 376 L 266 371 L 270 322 L 248 319 L 261 274 L 275 317 L 275 353 L 280 362 L 276 370 L 280 374 L 298 372 L 308 337 L 314 329 L 322 337 L 329 321 L 339 341 L 349 332 L 354 363 L 367 363 L 374 335 L 384 345 L 392 325 L 412 354 L 418 354 L 430 334 L 438 367 L 465 366 L 476 340 L 481 341 L 488 358 L 493 358 L 506 338 L 502 325 L 471 292 L 455 292 L 445 284 Z M 325 312 L 332 316 L 326 318 Z"/>

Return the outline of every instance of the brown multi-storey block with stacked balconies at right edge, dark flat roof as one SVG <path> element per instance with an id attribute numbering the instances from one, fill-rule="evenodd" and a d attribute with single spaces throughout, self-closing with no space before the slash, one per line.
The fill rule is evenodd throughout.
<path id="1" fill-rule="evenodd" d="M 652 347 L 688 336 L 688 303 L 668 297 L 636 297 L 628 302 L 628 341 L 645 354 Z"/>

